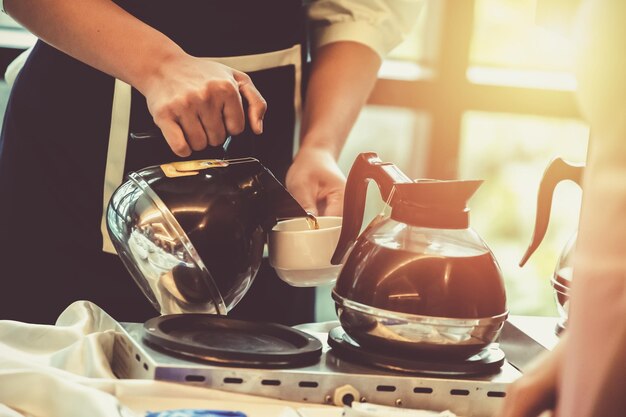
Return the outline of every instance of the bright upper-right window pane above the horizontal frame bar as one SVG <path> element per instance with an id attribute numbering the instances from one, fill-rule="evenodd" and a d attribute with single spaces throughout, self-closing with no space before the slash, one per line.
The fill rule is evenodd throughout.
<path id="1" fill-rule="evenodd" d="M 545 1 L 544 1 L 545 3 Z M 476 0 L 470 81 L 573 91 L 572 42 L 540 19 L 537 0 Z"/>

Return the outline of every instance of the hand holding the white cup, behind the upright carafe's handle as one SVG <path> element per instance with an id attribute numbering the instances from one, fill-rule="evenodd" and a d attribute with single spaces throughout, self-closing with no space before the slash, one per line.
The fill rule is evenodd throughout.
<path id="1" fill-rule="evenodd" d="M 330 151 L 301 148 L 287 171 L 286 185 L 309 213 L 319 216 L 343 214 L 346 177 Z"/>

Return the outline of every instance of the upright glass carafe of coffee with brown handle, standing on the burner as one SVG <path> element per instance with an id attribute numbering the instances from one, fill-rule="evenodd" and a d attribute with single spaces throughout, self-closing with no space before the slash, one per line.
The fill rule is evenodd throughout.
<path id="1" fill-rule="evenodd" d="M 357 238 L 369 180 L 391 214 Z M 466 205 L 481 183 L 413 181 L 374 153 L 359 155 L 333 256 L 345 257 L 333 290 L 338 316 L 358 343 L 469 357 L 497 337 L 507 317 L 504 282 Z"/>

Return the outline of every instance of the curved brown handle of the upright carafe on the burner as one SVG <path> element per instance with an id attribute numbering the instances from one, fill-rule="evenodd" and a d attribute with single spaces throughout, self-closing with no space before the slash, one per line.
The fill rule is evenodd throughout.
<path id="1" fill-rule="evenodd" d="M 369 180 L 374 180 L 378 184 L 380 194 L 385 201 L 388 200 L 394 184 L 413 182 L 394 164 L 381 161 L 376 153 L 366 152 L 357 156 L 350 168 L 346 183 L 343 223 L 339 242 L 331 260 L 333 265 L 341 263 L 361 230 Z"/>

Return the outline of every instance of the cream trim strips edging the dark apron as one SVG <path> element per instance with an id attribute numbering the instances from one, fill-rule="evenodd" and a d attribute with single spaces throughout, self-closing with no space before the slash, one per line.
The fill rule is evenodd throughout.
<path id="1" fill-rule="evenodd" d="M 294 129 L 294 141 L 296 129 L 299 125 L 302 113 L 301 83 L 302 83 L 302 52 L 299 44 L 280 51 L 262 54 L 206 58 L 220 64 L 235 68 L 242 72 L 254 72 L 276 67 L 293 65 L 295 68 L 295 88 L 293 106 L 296 115 Z M 100 231 L 102 233 L 102 250 L 115 254 L 115 248 L 109 237 L 106 226 L 106 210 L 113 192 L 122 184 L 124 179 L 124 165 L 126 162 L 126 145 L 130 128 L 130 101 L 132 88 L 123 81 L 115 80 L 113 92 L 113 108 L 111 110 L 111 129 L 109 131 L 109 147 L 107 150 L 107 162 L 104 174 L 104 191 L 102 196 L 102 220 Z M 294 150 L 297 149 L 294 143 Z M 166 162 L 166 161 L 164 161 Z"/>

